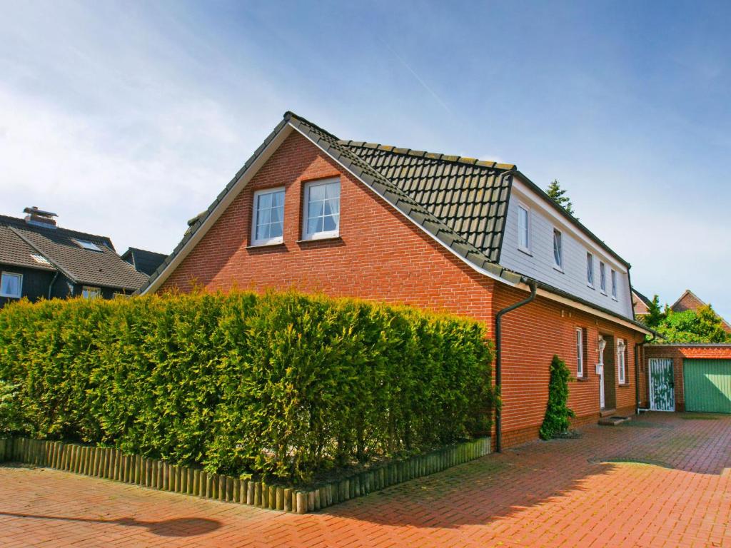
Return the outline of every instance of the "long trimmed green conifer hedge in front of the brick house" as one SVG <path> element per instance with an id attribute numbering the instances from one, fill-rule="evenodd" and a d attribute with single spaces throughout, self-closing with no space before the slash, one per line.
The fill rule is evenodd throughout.
<path id="1" fill-rule="evenodd" d="M 293 292 L 0 311 L 18 433 L 293 482 L 489 433 L 491 358 L 477 322 Z"/>

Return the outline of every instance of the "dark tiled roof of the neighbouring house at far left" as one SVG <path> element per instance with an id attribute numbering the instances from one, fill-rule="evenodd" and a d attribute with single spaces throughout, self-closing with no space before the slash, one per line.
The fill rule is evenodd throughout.
<path id="1" fill-rule="evenodd" d="M 146 275 L 137 272 L 116 254 L 111 240 L 106 236 L 60 227 L 41 227 L 28 224 L 22 218 L 8 216 L 0 216 L 0 228 L 0 262 L 6 258 L 12 259 L 11 252 L 6 254 L 5 250 L 17 251 L 20 249 L 17 240 L 21 240 L 25 244 L 23 250 L 34 250 L 34 254 L 43 256 L 53 265 L 50 270 L 61 271 L 75 283 L 135 291 L 147 280 Z M 99 251 L 83 249 L 74 240 L 91 242 Z"/>

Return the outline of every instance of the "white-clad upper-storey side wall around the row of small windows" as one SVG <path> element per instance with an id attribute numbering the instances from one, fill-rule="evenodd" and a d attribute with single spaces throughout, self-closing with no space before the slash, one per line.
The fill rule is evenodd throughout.
<path id="1" fill-rule="evenodd" d="M 519 207 L 529 210 L 529 252 L 521 250 L 518 245 Z M 553 258 L 554 229 L 561 232 L 562 269 L 555 266 Z M 587 252 L 594 256 L 593 288 L 587 283 Z M 602 293 L 599 287 L 599 262 L 605 264 L 606 294 Z M 629 276 L 626 268 L 596 246 L 583 232 L 552 211 L 550 205 L 543 202 L 542 197 L 515 180 L 508 202 L 500 265 L 632 319 L 632 295 L 629 292 Z M 616 299 L 612 297 L 612 270 L 617 273 Z"/>

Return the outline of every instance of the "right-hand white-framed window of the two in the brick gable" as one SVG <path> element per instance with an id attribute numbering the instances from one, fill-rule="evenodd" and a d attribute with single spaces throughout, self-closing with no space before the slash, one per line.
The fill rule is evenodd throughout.
<path id="1" fill-rule="evenodd" d="M 307 183 L 303 213 L 303 240 L 340 235 L 340 180 Z"/>

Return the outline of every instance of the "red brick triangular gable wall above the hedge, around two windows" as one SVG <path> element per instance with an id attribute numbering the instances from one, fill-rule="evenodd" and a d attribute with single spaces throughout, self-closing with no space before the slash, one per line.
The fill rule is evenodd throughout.
<path id="1" fill-rule="evenodd" d="M 341 237 L 300 242 L 303 183 L 339 177 Z M 284 186 L 284 244 L 247 248 L 254 191 Z M 162 290 L 295 288 L 401 302 L 488 321 L 480 275 L 293 132 L 183 260 Z"/>

